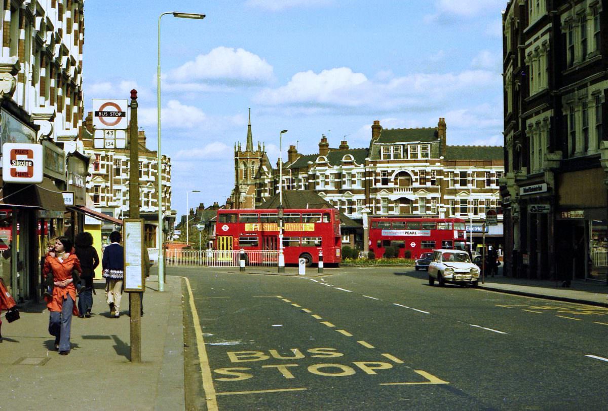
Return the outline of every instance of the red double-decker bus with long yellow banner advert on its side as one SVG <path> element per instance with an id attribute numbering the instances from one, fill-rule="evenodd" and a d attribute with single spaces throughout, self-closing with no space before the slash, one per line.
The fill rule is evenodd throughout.
<path id="1" fill-rule="evenodd" d="M 283 255 L 286 264 L 340 263 L 340 218 L 336 209 L 285 209 Z M 278 213 L 272 210 L 218 210 L 217 250 L 278 250 Z"/>

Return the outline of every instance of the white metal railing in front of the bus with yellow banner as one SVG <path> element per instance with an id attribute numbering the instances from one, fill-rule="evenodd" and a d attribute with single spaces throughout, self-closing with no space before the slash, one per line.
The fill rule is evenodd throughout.
<path id="1" fill-rule="evenodd" d="M 238 267 L 239 250 L 167 250 L 165 264 L 173 266 Z M 247 250 L 246 266 L 278 265 L 278 251 Z"/>

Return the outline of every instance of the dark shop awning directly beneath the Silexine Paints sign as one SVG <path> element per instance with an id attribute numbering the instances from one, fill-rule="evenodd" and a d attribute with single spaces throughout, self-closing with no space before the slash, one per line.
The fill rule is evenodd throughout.
<path id="1" fill-rule="evenodd" d="M 33 207 L 49 211 L 64 212 L 63 194 L 49 178 L 40 184 L 6 183 L 0 178 L 0 206 Z"/>

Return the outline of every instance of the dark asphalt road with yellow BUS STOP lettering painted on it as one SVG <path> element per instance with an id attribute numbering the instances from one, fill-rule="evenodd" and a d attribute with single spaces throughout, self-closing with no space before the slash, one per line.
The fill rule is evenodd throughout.
<path id="1" fill-rule="evenodd" d="M 219 410 L 606 409 L 606 308 L 429 286 L 403 269 L 326 272 L 171 269 L 199 324 L 188 406 L 207 394 Z"/>

